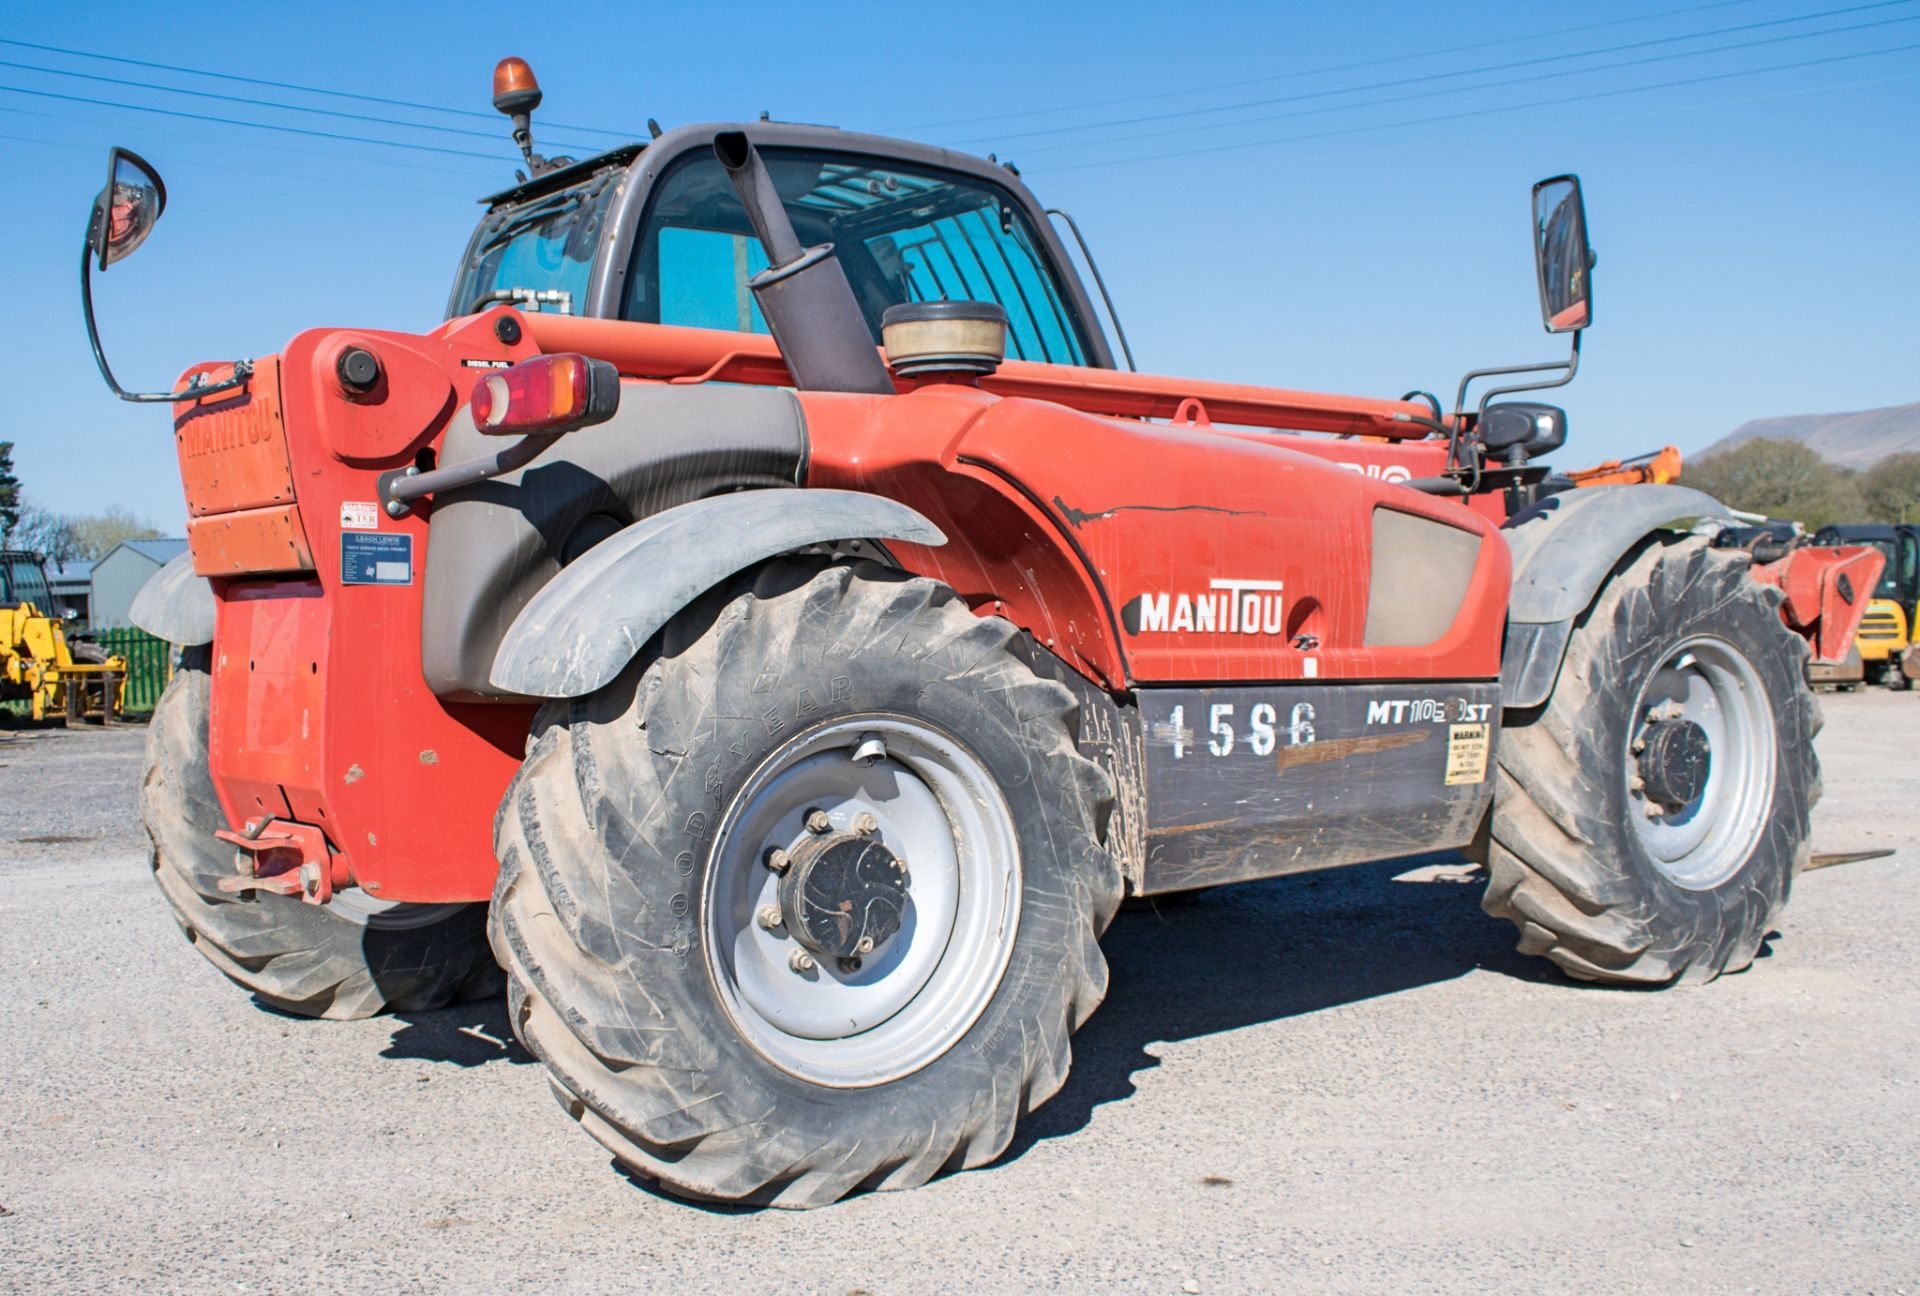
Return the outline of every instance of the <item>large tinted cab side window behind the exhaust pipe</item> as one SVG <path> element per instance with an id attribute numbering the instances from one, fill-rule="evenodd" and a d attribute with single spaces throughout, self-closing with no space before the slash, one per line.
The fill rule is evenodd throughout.
<path id="1" fill-rule="evenodd" d="M 803 244 L 831 242 L 860 313 L 900 301 L 998 301 L 1012 359 L 1085 365 L 1085 324 L 1014 198 L 987 180 L 854 154 L 762 150 Z M 634 246 L 626 319 L 766 332 L 747 280 L 766 253 L 712 154 L 655 186 Z"/>

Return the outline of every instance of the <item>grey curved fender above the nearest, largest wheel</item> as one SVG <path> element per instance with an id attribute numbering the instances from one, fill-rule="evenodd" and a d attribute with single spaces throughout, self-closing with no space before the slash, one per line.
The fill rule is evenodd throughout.
<path id="1" fill-rule="evenodd" d="M 804 545 L 945 545 L 914 509 L 851 490 L 751 490 L 655 513 L 609 536 L 520 609 L 493 657 L 495 687 L 582 697 L 603 687 L 674 612 L 733 572 Z"/>

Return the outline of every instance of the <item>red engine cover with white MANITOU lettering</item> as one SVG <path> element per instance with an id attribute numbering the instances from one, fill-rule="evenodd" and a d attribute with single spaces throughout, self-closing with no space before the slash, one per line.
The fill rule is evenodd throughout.
<path id="1" fill-rule="evenodd" d="M 1507 545 L 1475 511 L 1398 486 L 1384 474 L 1392 465 L 1361 465 L 1363 444 L 1342 451 L 1356 461 L 1348 467 L 1304 453 L 1294 438 L 1102 419 L 968 388 L 887 401 L 883 419 L 860 417 L 872 397 L 803 399 L 816 484 L 876 490 L 927 513 L 952 543 L 914 555 L 914 570 L 945 580 L 922 563 L 975 553 L 987 591 L 1021 586 L 1018 603 L 991 611 L 1110 685 L 1112 664 L 1127 684 L 1500 674 Z M 985 516 L 943 516 L 937 497 L 964 476 L 1018 499 L 1023 526 L 1008 534 Z M 1444 526 L 1461 543 L 1377 551 L 1377 511 Z M 1041 576 L 1029 555 L 1046 545 L 1075 578 Z M 1394 564 L 1394 578 L 1377 582 L 1379 564 Z M 1373 588 L 1453 588 L 1459 603 L 1430 641 L 1382 641 L 1369 636 Z M 1060 620 L 1056 609 L 1069 612 L 1073 639 L 1056 643 L 1039 628 Z"/>

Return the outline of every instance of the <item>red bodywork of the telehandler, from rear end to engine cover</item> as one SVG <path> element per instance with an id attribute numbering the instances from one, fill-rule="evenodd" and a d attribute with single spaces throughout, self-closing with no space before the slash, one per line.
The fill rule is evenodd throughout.
<path id="1" fill-rule="evenodd" d="M 499 342 L 499 315 L 520 323 L 516 344 Z M 349 346 L 378 355 L 372 392 L 349 394 L 334 376 Z M 292 826 L 319 828 L 334 852 L 328 885 L 351 877 L 420 902 L 492 895 L 493 812 L 534 707 L 428 691 L 430 507 L 371 520 L 367 509 L 382 472 L 438 447 L 474 365 L 553 351 L 643 382 L 787 382 L 768 338 L 493 311 L 424 336 L 305 332 L 261 361 L 242 396 L 175 407 L 188 540 L 219 597 L 213 781 L 234 829 L 255 822 L 273 841 L 311 841 Z M 1509 553 L 1498 501 L 1394 484 L 1442 467 L 1438 440 L 1413 440 L 1423 405 L 1023 363 L 977 388 L 801 401 L 808 486 L 925 513 L 950 543 L 899 545 L 908 568 L 1020 624 L 1102 687 L 1500 674 Z M 1478 541 L 1453 628 L 1430 645 L 1361 643 L 1375 509 Z M 355 518 L 346 530 L 407 538 L 409 582 L 344 584 L 344 518 Z M 1284 586 L 1284 634 L 1146 637 L 1119 624 L 1129 599 L 1204 591 L 1221 576 Z"/>

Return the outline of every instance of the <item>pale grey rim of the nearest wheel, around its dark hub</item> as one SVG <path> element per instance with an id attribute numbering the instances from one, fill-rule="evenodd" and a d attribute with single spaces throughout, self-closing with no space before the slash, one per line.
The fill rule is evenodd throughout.
<path id="1" fill-rule="evenodd" d="M 856 762 L 872 737 L 885 756 Z M 806 839 L 810 810 L 833 831 L 872 814 L 877 841 L 906 860 L 900 929 L 858 970 L 820 958 L 795 972 L 801 945 L 758 920 L 778 908 L 766 860 Z M 733 1025 L 770 1062 L 816 1085 L 883 1085 L 945 1054 L 985 1012 L 1020 893 L 1012 814 L 973 753 L 920 720 L 833 720 L 781 745 L 728 808 L 707 872 L 707 964 Z"/>

